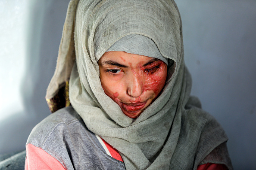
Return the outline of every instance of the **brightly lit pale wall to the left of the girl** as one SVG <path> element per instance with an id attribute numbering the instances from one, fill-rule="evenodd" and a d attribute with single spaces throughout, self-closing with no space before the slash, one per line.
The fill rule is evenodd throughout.
<path id="1" fill-rule="evenodd" d="M 50 115 L 46 88 L 56 66 L 69 0 L 0 0 L 0 154 L 25 150 Z"/>

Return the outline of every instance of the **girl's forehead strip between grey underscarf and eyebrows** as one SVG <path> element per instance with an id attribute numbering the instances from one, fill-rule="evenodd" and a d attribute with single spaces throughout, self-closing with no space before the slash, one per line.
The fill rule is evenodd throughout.
<path id="1" fill-rule="evenodd" d="M 127 52 L 105 52 L 99 60 L 101 65 L 112 65 L 111 62 L 117 62 L 128 67 L 137 67 L 150 65 L 156 61 L 160 61 L 156 58 L 147 57 L 144 55 L 130 54 Z"/>

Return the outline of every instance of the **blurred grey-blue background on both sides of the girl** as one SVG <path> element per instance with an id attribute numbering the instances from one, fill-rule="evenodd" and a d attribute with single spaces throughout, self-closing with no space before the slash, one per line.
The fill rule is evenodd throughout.
<path id="1" fill-rule="evenodd" d="M 69 0 L 0 0 L 0 154 L 25 150 L 50 115 L 44 99 Z M 185 63 L 229 137 L 235 170 L 256 169 L 256 1 L 176 0 Z"/>

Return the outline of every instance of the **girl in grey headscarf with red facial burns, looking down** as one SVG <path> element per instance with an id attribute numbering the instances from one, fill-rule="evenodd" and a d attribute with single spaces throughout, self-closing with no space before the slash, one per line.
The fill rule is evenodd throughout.
<path id="1" fill-rule="evenodd" d="M 190 89 L 174 1 L 71 0 L 25 169 L 232 169 Z"/>

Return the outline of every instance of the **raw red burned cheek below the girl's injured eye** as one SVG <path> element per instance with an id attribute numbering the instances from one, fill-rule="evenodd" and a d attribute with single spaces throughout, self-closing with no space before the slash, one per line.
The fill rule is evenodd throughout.
<path id="1" fill-rule="evenodd" d="M 166 64 L 162 64 L 162 67 L 155 74 L 148 74 L 145 80 L 144 89 L 145 90 L 153 90 L 156 94 L 155 97 L 162 91 L 162 88 L 165 85 L 167 76 L 167 66 Z"/>

